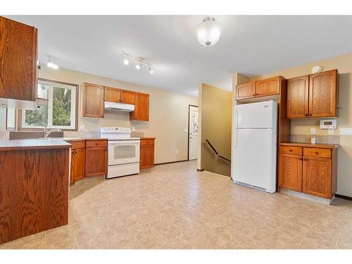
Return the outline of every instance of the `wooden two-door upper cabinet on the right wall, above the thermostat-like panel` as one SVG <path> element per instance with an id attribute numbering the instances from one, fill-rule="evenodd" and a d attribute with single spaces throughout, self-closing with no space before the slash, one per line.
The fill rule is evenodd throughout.
<path id="1" fill-rule="evenodd" d="M 287 118 L 337 117 L 339 75 L 328 70 L 287 80 Z"/>

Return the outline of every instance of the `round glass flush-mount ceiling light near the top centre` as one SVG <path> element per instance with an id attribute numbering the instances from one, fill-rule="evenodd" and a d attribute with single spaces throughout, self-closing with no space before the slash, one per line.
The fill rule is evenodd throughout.
<path id="1" fill-rule="evenodd" d="M 203 46 L 213 46 L 220 39 L 222 26 L 212 16 L 206 16 L 197 26 L 198 42 Z"/>

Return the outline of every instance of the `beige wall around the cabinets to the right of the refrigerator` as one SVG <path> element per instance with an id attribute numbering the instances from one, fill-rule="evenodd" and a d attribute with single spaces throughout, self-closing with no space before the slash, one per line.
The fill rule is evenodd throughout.
<path id="1" fill-rule="evenodd" d="M 337 130 L 339 128 L 352 127 L 352 54 L 345 54 L 322 61 L 315 61 L 306 65 L 294 68 L 279 70 L 275 73 L 251 77 L 252 80 L 259 80 L 277 75 L 285 78 L 297 77 L 310 74 L 314 65 L 322 66 L 323 70 L 339 70 L 339 118 L 337 119 Z M 315 127 L 319 135 L 327 135 L 327 130 L 320 130 L 319 120 L 292 120 L 291 134 L 310 134 L 310 127 Z M 352 197 L 352 136 L 341 135 L 338 160 L 337 194 Z"/>

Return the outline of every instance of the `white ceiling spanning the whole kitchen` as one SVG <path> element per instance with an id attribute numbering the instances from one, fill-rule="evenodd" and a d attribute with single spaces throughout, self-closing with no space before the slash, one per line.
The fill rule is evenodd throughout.
<path id="1" fill-rule="evenodd" d="M 219 15 L 223 33 L 201 46 L 198 15 L 8 16 L 39 29 L 39 61 L 197 96 L 200 82 L 231 91 L 232 73 L 270 73 L 352 52 L 352 16 Z M 125 66 L 121 51 L 142 56 L 150 75 Z"/>

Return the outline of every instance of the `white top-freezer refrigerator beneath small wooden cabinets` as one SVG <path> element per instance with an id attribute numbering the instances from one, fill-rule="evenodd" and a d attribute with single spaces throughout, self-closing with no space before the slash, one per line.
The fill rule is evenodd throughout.
<path id="1" fill-rule="evenodd" d="M 235 183 L 276 191 L 277 103 L 263 101 L 234 106 L 233 163 Z"/>

